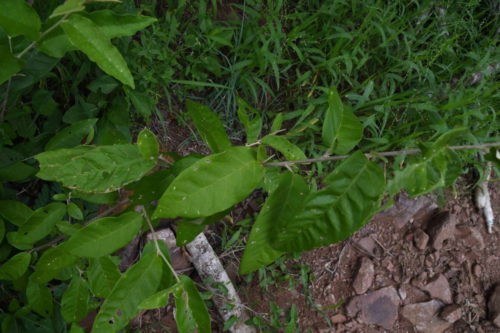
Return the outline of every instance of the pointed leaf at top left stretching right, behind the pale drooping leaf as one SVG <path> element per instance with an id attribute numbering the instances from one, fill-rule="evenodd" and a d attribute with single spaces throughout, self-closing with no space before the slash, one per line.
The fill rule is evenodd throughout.
<path id="1" fill-rule="evenodd" d="M 100 26 L 107 38 L 131 36 L 138 30 L 156 21 L 156 18 L 151 16 L 131 14 L 118 15 L 108 9 L 92 11 L 90 13 L 79 12 L 78 15 L 85 16 Z"/>

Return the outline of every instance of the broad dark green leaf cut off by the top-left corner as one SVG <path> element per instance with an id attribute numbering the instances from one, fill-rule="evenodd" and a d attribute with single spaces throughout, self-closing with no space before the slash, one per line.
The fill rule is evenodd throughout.
<path id="1" fill-rule="evenodd" d="M 40 39 L 40 17 L 26 1 L 2 0 L 0 26 L 10 37 L 22 34 L 31 41 Z"/>

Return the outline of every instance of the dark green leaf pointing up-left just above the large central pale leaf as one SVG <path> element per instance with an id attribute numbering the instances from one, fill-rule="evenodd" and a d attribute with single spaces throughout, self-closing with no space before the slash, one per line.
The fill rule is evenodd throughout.
<path id="1" fill-rule="evenodd" d="M 219 118 L 203 104 L 185 101 L 187 112 L 191 116 L 196 129 L 210 150 L 217 154 L 231 146 L 231 141 L 225 133 L 224 126 Z"/>

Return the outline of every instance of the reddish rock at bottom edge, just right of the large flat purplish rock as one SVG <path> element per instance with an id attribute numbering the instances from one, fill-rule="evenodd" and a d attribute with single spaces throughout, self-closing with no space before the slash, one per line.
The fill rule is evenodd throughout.
<path id="1" fill-rule="evenodd" d="M 442 333 L 451 325 L 436 316 L 442 308 L 444 303 L 439 300 L 409 304 L 402 308 L 401 316 L 417 333 Z"/>

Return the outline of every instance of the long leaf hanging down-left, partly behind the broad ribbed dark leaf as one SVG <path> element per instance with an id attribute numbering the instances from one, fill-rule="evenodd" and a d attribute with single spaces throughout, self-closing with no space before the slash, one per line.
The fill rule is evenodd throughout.
<path id="1" fill-rule="evenodd" d="M 293 218 L 293 213 L 302 206 L 308 193 L 309 187 L 300 175 L 292 175 L 289 171 L 281 175 L 278 187 L 269 195 L 252 226 L 238 274 L 248 274 L 267 266 L 283 254 L 272 248 L 272 240 Z"/>

